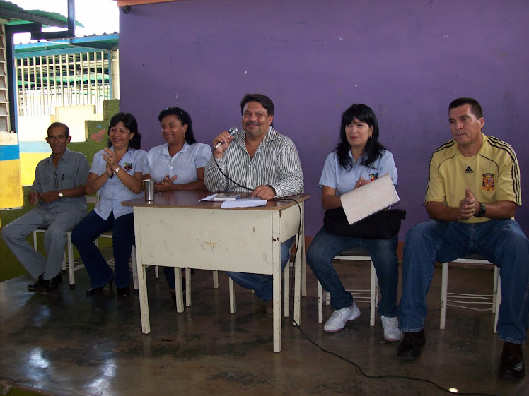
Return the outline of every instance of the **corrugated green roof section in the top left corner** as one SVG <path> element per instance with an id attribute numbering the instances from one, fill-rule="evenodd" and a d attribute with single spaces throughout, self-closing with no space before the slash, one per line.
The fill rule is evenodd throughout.
<path id="1" fill-rule="evenodd" d="M 25 10 L 11 3 L 11 1 L 0 0 L 0 21 L 6 25 L 19 25 L 22 23 L 42 23 L 47 26 L 66 28 L 68 18 L 59 13 L 50 13 L 42 10 Z M 76 21 L 77 26 L 84 26 Z"/>

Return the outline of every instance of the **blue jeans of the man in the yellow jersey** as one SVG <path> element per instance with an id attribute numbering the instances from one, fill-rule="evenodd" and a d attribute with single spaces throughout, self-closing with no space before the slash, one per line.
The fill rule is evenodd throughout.
<path id="1" fill-rule="evenodd" d="M 529 315 L 529 241 L 514 220 L 479 224 L 429 220 L 409 230 L 402 260 L 399 327 L 418 332 L 426 318 L 426 293 L 434 263 L 479 253 L 499 268 L 499 339 L 525 344 Z"/>

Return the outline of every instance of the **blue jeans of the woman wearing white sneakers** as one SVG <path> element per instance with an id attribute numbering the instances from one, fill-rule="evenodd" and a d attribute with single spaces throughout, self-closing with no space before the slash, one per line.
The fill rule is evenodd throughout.
<path id="1" fill-rule="evenodd" d="M 393 318 L 397 316 L 397 284 L 399 281 L 399 261 L 397 258 L 398 237 L 390 239 L 352 238 L 330 234 L 322 227 L 310 243 L 307 261 L 323 289 L 331 295 L 331 306 L 342 309 L 353 305 L 353 296 L 346 292 L 339 276 L 332 267 L 332 259 L 342 251 L 362 247 L 373 259 L 381 299 L 378 313 Z"/>

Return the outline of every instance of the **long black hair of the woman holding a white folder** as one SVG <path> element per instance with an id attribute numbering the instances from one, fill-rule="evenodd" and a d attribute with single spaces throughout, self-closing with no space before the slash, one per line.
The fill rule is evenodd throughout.
<path id="1" fill-rule="evenodd" d="M 340 126 L 339 132 L 340 140 L 335 149 L 338 155 L 340 167 L 347 171 L 353 168 L 353 160 L 349 156 L 351 145 L 347 141 L 345 127 L 351 124 L 354 119 L 365 122 L 370 127 L 373 126 L 371 138 L 368 138 L 366 143 L 367 158 L 366 160 L 363 160 L 362 164 L 364 164 L 366 167 L 370 167 L 371 164 L 373 164 L 373 162 L 375 162 L 375 160 L 380 157 L 380 155 L 382 155 L 382 150 L 385 150 L 384 146 L 378 141 L 378 121 L 371 107 L 361 103 L 353 104 L 344 112 L 344 114 L 342 114 L 342 125 Z"/>

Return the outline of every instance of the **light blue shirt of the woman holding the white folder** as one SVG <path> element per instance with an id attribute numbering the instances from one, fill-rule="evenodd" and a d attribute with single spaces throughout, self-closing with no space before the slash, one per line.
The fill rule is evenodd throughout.
<path id="1" fill-rule="evenodd" d="M 335 188 L 337 195 L 341 196 L 344 193 L 348 193 L 354 189 L 356 181 L 360 179 L 360 176 L 364 180 L 376 180 L 379 176 L 384 176 L 389 173 L 393 184 L 397 186 L 397 167 L 395 167 L 395 161 L 393 160 L 393 154 L 388 150 L 383 150 L 382 155 L 376 159 L 371 167 L 366 167 L 362 164 L 358 164 L 353 158 L 353 155 L 349 151 L 349 157 L 353 161 L 353 167 L 347 171 L 340 167 L 338 162 L 338 155 L 336 151 L 327 155 L 325 165 L 323 166 L 322 176 L 320 178 L 319 186 L 327 186 Z M 362 162 L 367 157 L 364 154 L 359 158 L 359 162 Z"/>

